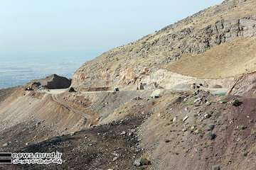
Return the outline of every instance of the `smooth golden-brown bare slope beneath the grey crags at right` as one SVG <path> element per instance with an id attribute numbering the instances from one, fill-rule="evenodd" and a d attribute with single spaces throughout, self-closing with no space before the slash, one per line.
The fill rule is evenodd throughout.
<path id="1" fill-rule="evenodd" d="M 238 38 L 196 55 L 184 55 L 166 69 L 193 77 L 218 79 L 256 70 L 256 39 Z"/>

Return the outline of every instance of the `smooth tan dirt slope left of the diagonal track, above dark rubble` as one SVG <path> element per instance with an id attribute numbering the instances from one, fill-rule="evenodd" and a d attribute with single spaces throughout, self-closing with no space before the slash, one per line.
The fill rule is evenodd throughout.
<path id="1" fill-rule="evenodd" d="M 78 130 L 82 117 L 52 100 L 48 94 L 20 89 L 0 103 L 1 130 L 26 121 L 46 123 L 56 134 Z"/>

